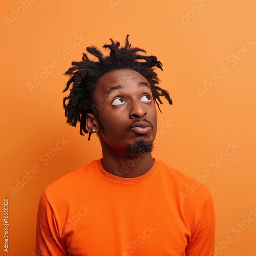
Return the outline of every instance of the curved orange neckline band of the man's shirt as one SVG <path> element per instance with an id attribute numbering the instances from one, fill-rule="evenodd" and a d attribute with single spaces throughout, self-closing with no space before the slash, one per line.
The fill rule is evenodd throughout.
<path id="1" fill-rule="evenodd" d="M 104 170 L 104 168 L 102 167 L 101 164 L 101 159 L 97 160 L 97 165 L 98 165 L 98 169 L 99 172 L 106 178 L 115 182 L 119 182 L 119 183 L 137 183 L 137 182 L 141 182 L 145 179 L 147 179 L 148 177 L 150 177 L 156 170 L 157 166 L 159 164 L 159 160 L 155 159 L 155 162 L 152 166 L 152 168 L 150 170 L 148 170 L 147 173 L 138 176 L 138 177 L 133 177 L 133 178 L 124 178 L 124 177 L 119 177 L 113 174 L 110 174 L 108 172 L 106 172 L 106 170 Z"/>

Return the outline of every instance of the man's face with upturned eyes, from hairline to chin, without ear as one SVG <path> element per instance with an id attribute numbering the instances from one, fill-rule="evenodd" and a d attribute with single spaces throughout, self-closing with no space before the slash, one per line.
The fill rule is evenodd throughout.
<path id="1" fill-rule="evenodd" d="M 136 149 L 131 149 L 133 145 L 152 146 L 157 111 L 144 76 L 131 69 L 104 74 L 96 84 L 94 102 L 98 107 L 96 120 L 102 145 L 116 151 L 135 150 L 133 153 L 136 153 Z"/>

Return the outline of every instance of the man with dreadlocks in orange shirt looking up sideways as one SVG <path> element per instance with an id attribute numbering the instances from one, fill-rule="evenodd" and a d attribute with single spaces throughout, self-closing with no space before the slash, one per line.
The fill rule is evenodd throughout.
<path id="1" fill-rule="evenodd" d="M 192 178 L 152 158 L 157 132 L 155 56 L 112 39 L 110 55 L 95 47 L 66 74 L 67 122 L 97 134 L 102 158 L 49 185 L 41 196 L 36 231 L 38 255 L 209 255 L 215 218 L 204 185 L 187 194 Z"/>

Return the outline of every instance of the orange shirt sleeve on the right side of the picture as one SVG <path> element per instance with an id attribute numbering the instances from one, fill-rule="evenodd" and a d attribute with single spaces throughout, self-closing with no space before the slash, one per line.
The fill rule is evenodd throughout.
<path id="1" fill-rule="evenodd" d="M 210 191 L 199 214 L 195 230 L 186 247 L 187 256 L 207 256 L 214 251 L 215 214 L 214 203 Z"/>

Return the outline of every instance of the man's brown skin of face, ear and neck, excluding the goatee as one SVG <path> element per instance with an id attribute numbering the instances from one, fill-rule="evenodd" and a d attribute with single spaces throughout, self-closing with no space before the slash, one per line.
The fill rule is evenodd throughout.
<path id="1" fill-rule="evenodd" d="M 147 173 L 154 164 L 151 152 L 132 154 L 126 147 L 139 141 L 153 143 L 156 137 L 157 110 L 147 79 L 131 69 L 106 73 L 96 84 L 94 103 L 97 114 L 87 114 L 86 123 L 100 139 L 102 167 L 126 178 Z M 134 166 L 117 175 L 116 170 L 120 171 L 122 163 L 129 160 Z"/>

